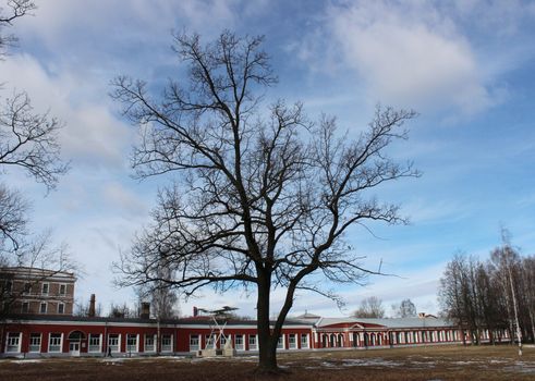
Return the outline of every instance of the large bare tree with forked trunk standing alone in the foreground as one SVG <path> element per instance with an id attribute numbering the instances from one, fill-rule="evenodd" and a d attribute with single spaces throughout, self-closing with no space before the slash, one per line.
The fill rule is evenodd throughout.
<path id="1" fill-rule="evenodd" d="M 275 372 L 296 292 L 331 295 L 320 275 L 362 281 L 370 271 L 344 233 L 365 221 L 405 222 L 398 206 L 379 202 L 373 190 L 418 173 L 386 152 L 406 138 L 402 124 L 413 111 L 377 108 L 367 131 L 351 139 L 337 133 L 332 118 L 312 123 L 301 103 L 266 108 L 264 89 L 277 78 L 262 42 L 230 32 L 207 45 L 197 35 L 175 35 L 186 81 L 170 79 L 159 95 L 143 81 L 113 81 L 112 97 L 141 130 L 137 175 L 173 180 L 159 194 L 153 225 L 117 265 L 122 285 L 163 281 L 185 295 L 204 286 L 256 292 L 258 371 Z M 175 276 L 161 279 L 161 266 Z M 285 298 L 270 321 L 276 287 Z"/>

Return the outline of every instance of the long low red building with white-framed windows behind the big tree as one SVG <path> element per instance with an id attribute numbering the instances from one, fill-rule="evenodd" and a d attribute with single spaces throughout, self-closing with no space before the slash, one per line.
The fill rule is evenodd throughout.
<path id="1" fill-rule="evenodd" d="M 216 347 L 230 341 L 236 354 L 255 353 L 255 321 L 228 320 Z M 0 327 L 0 356 L 146 356 L 196 355 L 212 347 L 219 327 L 199 316 L 158 322 L 155 319 L 77 318 L 59 316 L 12 317 Z M 464 335 L 464 337 L 463 337 Z M 495 337 L 509 341 L 507 330 Z M 489 332 L 482 333 L 482 341 Z M 466 332 L 436 318 L 289 320 L 280 351 L 373 348 L 462 343 Z"/>

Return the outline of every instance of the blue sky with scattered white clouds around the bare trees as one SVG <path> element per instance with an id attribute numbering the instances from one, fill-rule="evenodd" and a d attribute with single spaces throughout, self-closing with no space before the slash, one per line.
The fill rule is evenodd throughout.
<path id="1" fill-rule="evenodd" d="M 2 0 L 3 2 L 3 0 Z M 522 254 L 535 254 L 535 3 L 523 1 L 36 1 L 34 16 L 12 32 L 20 47 L 0 62 L 2 97 L 25 89 L 36 110 L 64 123 L 62 155 L 72 170 L 58 190 L 9 172 L 10 185 L 33 201 L 33 228 L 51 228 L 84 265 L 76 296 L 96 293 L 134 303 L 112 286 L 111 263 L 149 222 L 159 182 L 132 180 L 135 127 L 121 119 L 109 83 L 129 74 L 157 87 L 177 75 L 172 30 L 204 40 L 223 28 L 265 35 L 279 84 L 268 99 L 302 100 L 311 118 L 338 116 L 361 131 L 378 102 L 412 108 L 410 140 L 391 155 L 424 173 L 378 190 L 398 201 L 408 226 L 355 229 L 350 241 L 370 269 L 397 276 L 343 287 L 346 307 L 303 294 L 293 311 L 340 316 L 363 297 L 387 307 L 402 298 L 436 312 L 445 263 L 458 250 L 488 256 L 500 226 Z M 275 294 L 273 305 L 281 299 Z M 254 298 L 206 291 L 182 304 L 234 305 L 254 314 Z"/>

